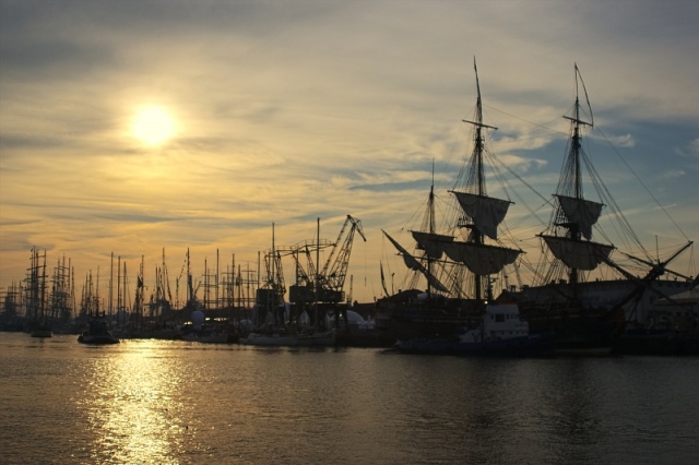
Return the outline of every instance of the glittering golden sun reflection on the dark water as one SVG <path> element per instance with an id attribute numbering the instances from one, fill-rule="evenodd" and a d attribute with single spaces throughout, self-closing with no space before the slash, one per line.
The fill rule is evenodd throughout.
<path id="1" fill-rule="evenodd" d="M 173 360 L 147 350 L 94 360 L 83 403 L 94 433 L 95 463 L 174 463 L 187 427 L 185 406 L 170 393 L 180 384 Z"/>

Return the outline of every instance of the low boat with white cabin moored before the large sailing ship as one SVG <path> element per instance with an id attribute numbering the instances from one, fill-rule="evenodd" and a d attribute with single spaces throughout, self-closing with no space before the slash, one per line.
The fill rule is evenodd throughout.
<path id="1" fill-rule="evenodd" d="M 455 339 L 398 341 L 395 347 L 405 354 L 461 356 L 547 356 L 556 348 L 552 332 L 529 332 L 529 323 L 520 319 L 517 303 L 490 303 L 477 327 L 463 331 Z"/>

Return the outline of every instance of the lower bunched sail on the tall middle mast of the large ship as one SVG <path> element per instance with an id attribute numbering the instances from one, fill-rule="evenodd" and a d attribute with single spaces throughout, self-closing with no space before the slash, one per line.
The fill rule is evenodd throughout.
<path id="1" fill-rule="evenodd" d="M 513 263 L 521 250 L 506 247 L 486 246 L 475 242 L 446 242 L 445 253 L 454 262 L 463 263 L 481 276 L 499 273 L 506 265 Z"/>

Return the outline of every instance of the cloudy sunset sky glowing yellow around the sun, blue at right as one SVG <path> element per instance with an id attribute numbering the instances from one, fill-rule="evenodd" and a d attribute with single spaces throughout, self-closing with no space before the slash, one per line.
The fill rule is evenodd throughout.
<path id="1" fill-rule="evenodd" d="M 381 230 L 410 242 L 433 166 L 447 198 L 471 152 L 474 59 L 489 150 L 546 198 L 578 64 L 589 155 L 666 257 L 699 238 L 698 23 L 690 0 L 0 0 L 0 286 L 32 247 L 49 274 L 70 259 L 78 291 L 112 253 L 131 282 L 163 250 L 173 281 L 187 249 L 196 279 L 216 253 L 256 267 L 273 224 L 276 246 L 315 239 L 317 218 L 335 240 L 350 214 L 367 239 L 352 296 L 372 301 L 379 263 L 403 273 Z M 139 126 L 147 108 L 169 120 Z M 541 206 L 511 208 L 532 258 Z M 696 274 L 694 249 L 675 263 Z"/>

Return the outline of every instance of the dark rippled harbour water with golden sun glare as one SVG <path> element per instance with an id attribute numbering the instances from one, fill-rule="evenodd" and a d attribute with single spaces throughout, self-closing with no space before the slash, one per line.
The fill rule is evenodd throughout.
<path id="1" fill-rule="evenodd" d="M 696 464 L 699 358 L 0 333 L 5 464 Z"/>

